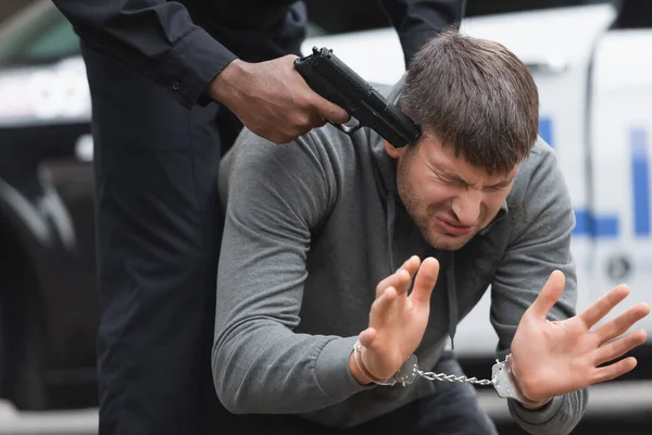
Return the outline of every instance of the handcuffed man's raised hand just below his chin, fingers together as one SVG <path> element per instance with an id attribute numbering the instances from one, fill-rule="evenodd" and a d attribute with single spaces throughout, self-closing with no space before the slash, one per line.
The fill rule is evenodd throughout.
<path id="1" fill-rule="evenodd" d="M 361 359 L 372 375 L 389 378 L 417 348 L 428 323 L 430 294 L 438 274 L 436 259 L 426 258 L 422 263 L 414 256 L 376 287 L 369 326 L 360 334 Z"/>

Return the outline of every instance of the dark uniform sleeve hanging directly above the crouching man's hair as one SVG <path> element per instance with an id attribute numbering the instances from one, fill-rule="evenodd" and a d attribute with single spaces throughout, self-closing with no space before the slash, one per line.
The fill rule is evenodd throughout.
<path id="1" fill-rule="evenodd" d="M 466 8 L 465 0 L 380 0 L 380 3 L 399 34 L 405 67 L 430 38 L 460 23 Z"/>

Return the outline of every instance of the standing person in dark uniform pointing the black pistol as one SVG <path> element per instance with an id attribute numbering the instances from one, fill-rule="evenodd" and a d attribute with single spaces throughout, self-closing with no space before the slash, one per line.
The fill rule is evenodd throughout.
<path id="1" fill-rule="evenodd" d="M 238 126 L 216 119 L 233 112 L 283 144 L 349 116 L 293 69 L 302 2 L 53 2 L 82 37 L 92 98 L 100 434 L 217 433 L 235 417 L 210 372 L 216 175 Z M 381 3 L 406 62 L 464 11 L 461 0 Z"/>

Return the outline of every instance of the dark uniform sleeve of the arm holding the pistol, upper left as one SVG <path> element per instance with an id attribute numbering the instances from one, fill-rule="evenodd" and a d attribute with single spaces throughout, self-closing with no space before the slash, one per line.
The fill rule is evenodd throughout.
<path id="1" fill-rule="evenodd" d="M 236 55 L 165 0 L 53 0 L 91 47 L 170 89 L 190 108 Z"/>

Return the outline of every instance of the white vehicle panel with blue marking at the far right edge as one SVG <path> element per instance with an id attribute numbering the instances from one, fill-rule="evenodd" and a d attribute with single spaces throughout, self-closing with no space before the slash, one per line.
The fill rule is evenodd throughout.
<path id="1" fill-rule="evenodd" d="M 591 185 L 595 216 L 592 298 L 626 283 L 628 303 L 652 302 L 652 32 L 607 33 L 595 51 Z M 652 316 L 640 326 L 652 332 Z M 648 336 L 652 340 L 652 334 Z"/>

